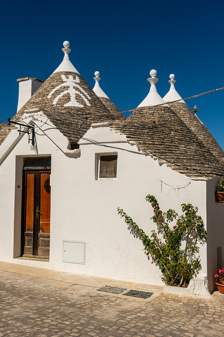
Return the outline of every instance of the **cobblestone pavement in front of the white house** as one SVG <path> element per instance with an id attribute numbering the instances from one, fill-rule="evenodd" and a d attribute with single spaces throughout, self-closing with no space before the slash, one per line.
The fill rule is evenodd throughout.
<path id="1" fill-rule="evenodd" d="M 54 282 L 55 283 L 55 282 Z M 0 272 L 0 336 L 224 336 L 224 295 L 153 300 Z"/>

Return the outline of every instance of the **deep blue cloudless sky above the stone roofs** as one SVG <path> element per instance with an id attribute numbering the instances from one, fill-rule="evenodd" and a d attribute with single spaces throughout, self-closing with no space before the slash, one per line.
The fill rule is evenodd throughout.
<path id="1" fill-rule="evenodd" d="M 0 121 L 17 108 L 21 77 L 45 80 L 70 60 L 93 87 L 94 72 L 118 108 L 133 109 L 149 91 L 150 69 L 157 90 L 169 90 L 170 73 L 182 97 L 224 87 L 224 1 L 5 1 L 1 0 Z M 224 90 L 187 100 L 224 148 Z M 127 116 L 128 114 L 126 114 Z"/>

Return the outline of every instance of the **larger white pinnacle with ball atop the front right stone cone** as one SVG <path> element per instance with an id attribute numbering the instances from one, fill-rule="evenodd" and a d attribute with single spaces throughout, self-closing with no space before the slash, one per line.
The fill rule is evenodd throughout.
<path id="1" fill-rule="evenodd" d="M 157 75 L 157 71 L 155 69 L 150 70 L 150 77 L 147 81 L 151 84 L 151 88 L 149 90 L 148 95 L 146 98 L 142 101 L 142 103 L 139 104 L 138 108 L 142 106 L 152 106 L 157 104 L 163 104 L 165 103 L 162 97 L 159 96 L 157 90 L 156 90 L 156 83 L 158 82 L 158 78 L 155 76 Z M 163 104 L 161 106 L 168 106 L 167 104 Z"/>

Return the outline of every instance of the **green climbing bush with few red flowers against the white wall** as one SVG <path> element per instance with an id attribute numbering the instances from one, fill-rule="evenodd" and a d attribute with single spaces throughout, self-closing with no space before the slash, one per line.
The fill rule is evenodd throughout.
<path id="1" fill-rule="evenodd" d="M 151 219 L 157 225 L 157 231 L 153 230 L 150 237 L 122 209 L 118 208 L 118 213 L 124 217 L 132 234 L 142 240 L 145 254 L 159 266 L 165 284 L 186 287 L 200 267 L 200 259 L 195 256 L 199 252 L 198 244 L 206 241 L 198 208 L 182 204 L 183 215 L 179 216 L 171 209 L 162 212 L 153 195 L 147 195 L 146 201 L 153 207 Z"/>

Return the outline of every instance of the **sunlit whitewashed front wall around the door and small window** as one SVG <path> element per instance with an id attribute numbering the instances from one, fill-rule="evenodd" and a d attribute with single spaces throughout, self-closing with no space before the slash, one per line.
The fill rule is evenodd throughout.
<path id="1" fill-rule="evenodd" d="M 44 121 L 44 117 L 38 117 Z M 27 120 L 28 121 L 28 120 Z M 37 122 L 38 125 L 43 123 Z M 48 124 L 44 129 L 49 128 Z M 63 150 L 68 141 L 57 129 L 46 130 L 48 136 Z M 40 135 L 39 135 L 40 134 Z M 51 268 L 78 274 L 162 285 L 159 268 L 148 261 L 142 242 L 127 230 L 117 213 L 123 210 L 147 234 L 156 228 L 150 220 L 151 204 L 145 201 L 153 194 L 162 210 L 181 213 L 182 203 L 198 207 L 206 224 L 206 181 L 194 181 L 174 172 L 165 164 L 145 156 L 136 145 L 130 145 L 124 135 L 109 127 L 90 128 L 80 141 L 80 154 L 65 154 L 46 136 L 36 133 L 38 155 L 51 155 L 51 227 L 50 261 L 16 259 L 20 256 L 22 158 L 33 156 L 27 135 L 16 141 L 18 132 L 11 131 L 0 146 L 0 259 L 2 261 Z M 14 142 L 14 148 L 6 149 Z M 17 143 L 16 143 L 17 142 Z M 96 153 L 117 152 L 117 180 L 95 180 Z M 1 159 L 2 158 L 2 159 Z M 171 187 L 189 181 L 179 194 Z M 62 262 L 62 240 L 86 242 L 85 265 Z M 206 245 L 201 247 L 202 269 L 207 275 Z M 14 259 L 13 259 L 14 257 Z"/>

